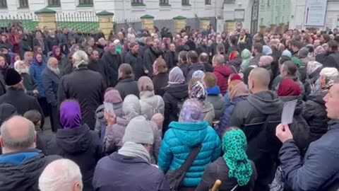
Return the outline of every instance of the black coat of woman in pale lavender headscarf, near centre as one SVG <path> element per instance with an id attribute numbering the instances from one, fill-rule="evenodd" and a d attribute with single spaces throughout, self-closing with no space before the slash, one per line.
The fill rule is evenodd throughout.
<path id="1" fill-rule="evenodd" d="M 189 86 L 187 84 L 169 84 L 165 87 L 165 94 L 162 97 L 165 103 L 165 120 L 162 134 L 165 134 L 170 122 L 177 122 L 179 119 L 179 105 L 189 97 Z M 178 105 L 179 104 L 179 105 Z"/>

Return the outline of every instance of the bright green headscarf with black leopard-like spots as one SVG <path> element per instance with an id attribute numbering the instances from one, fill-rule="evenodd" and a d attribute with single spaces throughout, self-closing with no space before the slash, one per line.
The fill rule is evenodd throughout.
<path id="1" fill-rule="evenodd" d="M 222 137 L 223 158 L 230 169 L 228 175 L 237 179 L 239 186 L 247 185 L 253 173 L 246 149 L 246 136 L 241 129 L 231 130 Z"/>

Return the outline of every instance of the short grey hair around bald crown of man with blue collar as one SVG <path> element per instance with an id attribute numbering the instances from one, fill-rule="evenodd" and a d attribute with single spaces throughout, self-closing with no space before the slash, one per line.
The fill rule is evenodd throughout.
<path id="1" fill-rule="evenodd" d="M 23 137 L 11 136 L 11 131 L 10 129 L 8 129 L 9 128 L 8 122 L 16 117 L 20 118 L 20 120 L 24 120 L 25 122 L 27 122 L 28 131 L 27 131 L 27 134 L 25 134 L 25 136 Z M 20 128 L 20 127 L 16 127 L 16 128 Z M 19 115 L 15 115 L 9 118 L 8 120 L 6 120 L 6 122 L 4 122 L 0 127 L 0 134 L 1 134 L 2 141 L 4 141 L 4 147 L 11 149 L 11 150 L 22 151 L 22 150 L 30 148 L 35 143 L 34 142 L 35 141 L 35 125 L 30 120 L 27 120 L 25 117 L 21 117 Z"/>

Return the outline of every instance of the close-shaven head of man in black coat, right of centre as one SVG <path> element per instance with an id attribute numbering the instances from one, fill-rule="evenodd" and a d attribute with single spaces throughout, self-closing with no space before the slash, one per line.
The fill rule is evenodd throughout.
<path id="1" fill-rule="evenodd" d="M 258 93 L 267 91 L 270 84 L 270 73 L 267 69 L 255 68 L 249 73 L 249 91 Z"/>

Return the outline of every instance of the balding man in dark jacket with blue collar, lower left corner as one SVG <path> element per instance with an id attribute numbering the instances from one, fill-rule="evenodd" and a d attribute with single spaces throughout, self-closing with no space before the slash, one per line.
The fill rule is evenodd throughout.
<path id="1" fill-rule="evenodd" d="M 0 190 L 38 191 L 38 178 L 60 156 L 44 156 L 35 149 L 37 136 L 30 120 L 14 116 L 1 127 Z"/>

